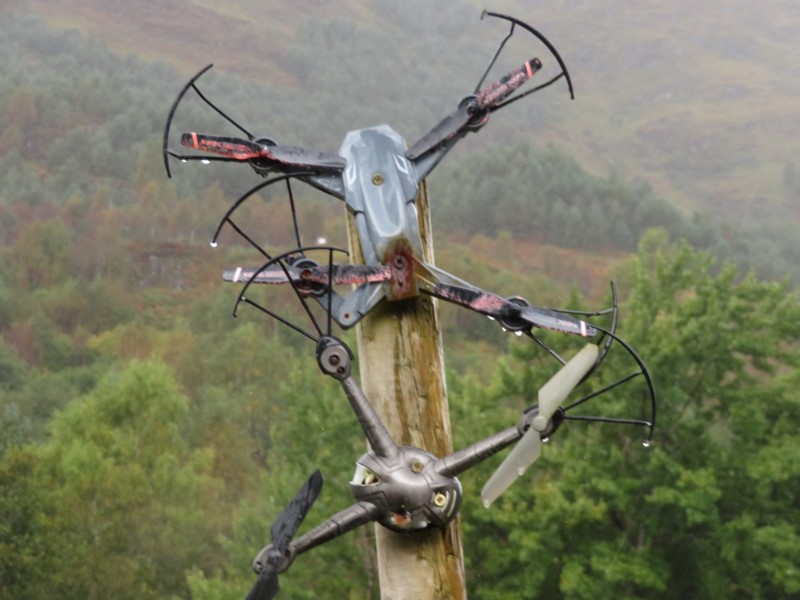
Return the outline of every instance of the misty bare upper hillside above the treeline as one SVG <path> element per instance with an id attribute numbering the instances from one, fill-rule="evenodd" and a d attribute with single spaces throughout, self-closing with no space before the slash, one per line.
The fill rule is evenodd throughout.
<path id="1" fill-rule="evenodd" d="M 475 80 L 497 41 L 481 29 L 482 3 L 471 0 L 447 8 L 410 2 L 402 9 L 385 2 L 320 0 L 273 3 L 269 10 L 244 0 L 224 8 L 204 0 L 27 4 L 53 25 L 100 35 L 123 54 L 170 62 L 186 74 L 215 62 L 222 72 L 268 82 L 284 94 L 338 95 L 341 122 L 351 128 L 366 125 L 358 118 L 363 106 L 342 99 L 360 95 L 359 90 L 319 86 L 320 80 L 296 68 L 298 45 L 318 59 L 321 70 L 346 70 L 342 63 L 357 54 L 366 66 L 356 77 L 360 85 L 386 69 L 398 80 L 420 82 L 397 81 L 392 87 L 393 79 L 380 77 L 382 94 L 369 93 L 375 112 L 394 124 L 402 121 L 398 106 L 418 103 L 420 91 L 428 118 L 441 116 L 469 89 L 467 82 Z M 722 9 L 688 0 L 624 6 L 505 0 L 490 8 L 545 32 L 572 71 L 574 103 L 555 106 L 552 96 L 538 101 L 547 104 L 547 121 L 536 133 L 537 143 L 562 145 L 599 174 L 614 169 L 646 180 L 686 210 L 735 214 L 770 226 L 779 219 L 800 224 L 793 175 L 800 79 L 789 68 L 800 61 L 796 3 L 735 2 Z M 320 31 L 338 22 L 350 24 L 345 36 Z M 371 56 L 364 55 L 365 42 Z M 432 75 L 453 56 L 464 57 L 458 72 L 448 72 L 448 85 L 434 85 Z M 497 134 L 508 131 L 500 126 Z"/>

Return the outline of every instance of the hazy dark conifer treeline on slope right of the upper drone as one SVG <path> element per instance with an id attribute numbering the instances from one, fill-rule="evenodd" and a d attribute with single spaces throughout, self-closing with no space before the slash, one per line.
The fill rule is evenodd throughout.
<path id="1" fill-rule="evenodd" d="M 765 236 L 733 219 L 686 215 L 648 183 L 615 172 L 599 177 L 553 146 L 482 148 L 444 163 L 434 178 L 434 216 L 446 231 L 508 231 L 567 248 L 633 250 L 647 229 L 660 227 L 673 240 L 685 239 L 762 277 L 800 278 L 800 247 L 791 227 L 773 227 Z"/>

